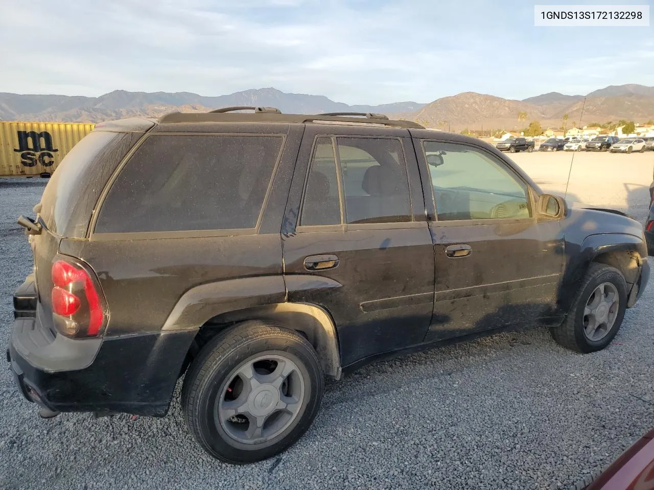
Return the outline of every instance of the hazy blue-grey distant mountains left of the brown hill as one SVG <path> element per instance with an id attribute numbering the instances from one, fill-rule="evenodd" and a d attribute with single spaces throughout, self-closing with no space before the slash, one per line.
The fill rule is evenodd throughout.
<path id="1" fill-rule="evenodd" d="M 267 105 L 290 114 L 320 112 L 414 112 L 424 104 L 398 102 L 379 106 L 334 102 L 324 95 L 285 93 L 274 88 L 203 97 L 190 92 L 129 92 L 114 90 L 100 97 L 19 95 L 0 93 L 0 120 L 100 122 L 133 116 L 161 116 L 173 110 L 206 112 L 224 106 Z"/>

